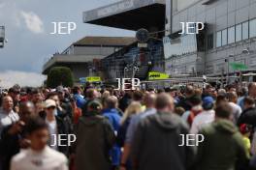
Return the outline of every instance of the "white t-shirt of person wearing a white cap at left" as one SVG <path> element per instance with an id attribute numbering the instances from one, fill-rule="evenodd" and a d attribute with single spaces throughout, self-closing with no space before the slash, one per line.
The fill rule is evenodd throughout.
<path id="1" fill-rule="evenodd" d="M 57 122 L 56 120 L 48 122 L 48 120 L 46 120 L 46 123 L 48 124 L 48 131 L 49 131 L 49 146 L 50 148 L 58 151 L 58 141 L 57 141 L 57 137 L 56 135 L 58 134 L 58 130 L 57 130 Z"/>

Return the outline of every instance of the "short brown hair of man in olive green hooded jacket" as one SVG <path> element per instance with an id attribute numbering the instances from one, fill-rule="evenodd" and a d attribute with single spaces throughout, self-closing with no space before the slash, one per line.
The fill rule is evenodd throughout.
<path id="1" fill-rule="evenodd" d="M 228 119 L 232 114 L 232 107 L 229 102 L 222 102 L 215 108 L 215 115 L 218 118 Z"/>

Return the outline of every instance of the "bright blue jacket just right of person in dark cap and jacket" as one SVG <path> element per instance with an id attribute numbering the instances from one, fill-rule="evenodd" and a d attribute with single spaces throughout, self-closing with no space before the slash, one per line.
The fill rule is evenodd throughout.
<path id="1" fill-rule="evenodd" d="M 115 108 L 104 109 L 102 111 L 102 114 L 103 116 L 109 119 L 112 125 L 112 128 L 114 130 L 114 133 L 115 135 L 117 135 L 117 131 L 120 128 L 120 121 L 121 121 L 121 117 L 118 113 L 118 110 L 116 110 Z M 121 149 L 120 147 L 117 146 L 116 143 L 112 147 L 111 156 L 112 156 L 112 165 L 119 165 L 120 157 L 121 157 Z"/>

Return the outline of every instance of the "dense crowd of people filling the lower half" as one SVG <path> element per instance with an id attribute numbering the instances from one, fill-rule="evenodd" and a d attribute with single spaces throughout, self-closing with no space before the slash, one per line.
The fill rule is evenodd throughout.
<path id="1" fill-rule="evenodd" d="M 256 168 L 256 83 L 135 91 L 15 85 L 0 98 L 0 170 Z"/>

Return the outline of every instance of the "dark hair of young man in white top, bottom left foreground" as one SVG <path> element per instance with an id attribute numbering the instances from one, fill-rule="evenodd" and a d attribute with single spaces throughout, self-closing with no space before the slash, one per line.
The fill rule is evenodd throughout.
<path id="1" fill-rule="evenodd" d="M 31 134 L 32 132 L 39 129 L 48 129 L 47 123 L 39 117 L 30 118 L 26 124 L 25 131 L 28 134 Z"/>

